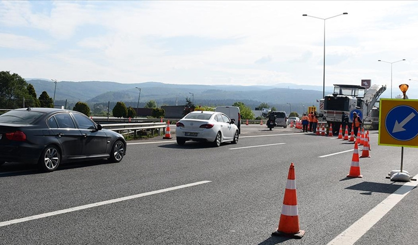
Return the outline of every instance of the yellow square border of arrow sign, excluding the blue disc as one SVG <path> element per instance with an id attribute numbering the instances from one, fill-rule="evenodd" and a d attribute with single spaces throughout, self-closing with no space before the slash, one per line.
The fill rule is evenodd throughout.
<path id="1" fill-rule="evenodd" d="M 401 141 L 393 138 L 386 129 L 386 116 L 395 107 L 406 105 L 418 111 L 418 99 L 380 99 L 379 108 L 379 145 L 393 147 L 418 147 L 418 137 Z"/>

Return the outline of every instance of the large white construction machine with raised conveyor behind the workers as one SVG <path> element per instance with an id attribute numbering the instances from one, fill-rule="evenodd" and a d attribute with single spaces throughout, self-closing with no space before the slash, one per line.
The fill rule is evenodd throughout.
<path id="1" fill-rule="evenodd" d="M 319 100 L 319 117 L 327 121 L 328 125 L 332 124 L 334 135 L 339 132 L 343 112 L 348 114 L 350 125 L 353 120 L 353 112 L 356 112 L 363 122 L 371 122 L 373 125 L 372 108 L 385 90 L 386 85 L 372 85 L 367 89 L 359 85 L 334 84 L 332 95 L 327 95 Z M 375 121 L 374 126 L 376 123 L 379 125 L 379 121 Z"/>

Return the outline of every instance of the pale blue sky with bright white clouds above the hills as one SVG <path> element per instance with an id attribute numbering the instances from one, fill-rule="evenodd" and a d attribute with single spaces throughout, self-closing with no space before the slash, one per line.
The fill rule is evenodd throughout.
<path id="1" fill-rule="evenodd" d="M 414 0 L 1 0 L 0 70 L 73 82 L 322 86 L 325 23 L 326 86 L 392 81 L 398 93 L 418 85 L 417 13 Z"/>

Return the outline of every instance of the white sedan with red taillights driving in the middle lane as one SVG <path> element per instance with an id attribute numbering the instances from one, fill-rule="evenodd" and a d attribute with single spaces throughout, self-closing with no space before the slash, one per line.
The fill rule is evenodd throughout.
<path id="1" fill-rule="evenodd" d="M 219 147 L 223 142 L 238 143 L 237 125 L 226 114 L 220 112 L 191 112 L 175 126 L 178 145 L 184 145 L 187 140 L 210 142 L 215 147 Z"/>

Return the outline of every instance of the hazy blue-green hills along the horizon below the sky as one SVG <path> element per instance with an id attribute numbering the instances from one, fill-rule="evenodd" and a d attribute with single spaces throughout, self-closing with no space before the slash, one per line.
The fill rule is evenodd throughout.
<path id="1" fill-rule="evenodd" d="M 44 79 L 27 80 L 35 87 L 39 96 L 46 91 L 51 97 L 55 88 L 54 82 Z M 280 84 L 278 84 L 280 86 Z M 226 105 L 242 101 L 250 107 L 256 107 L 261 102 L 275 106 L 278 110 L 289 108 L 287 103 L 296 110 L 296 106 L 316 104 L 316 99 L 322 98 L 321 86 L 305 86 L 284 84 L 278 86 L 240 86 L 240 85 L 186 85 L 167 84 L 162 82 L 118 83 L 118 82 L 58 82 L 56 85 L 55 100 L 66 100 L 69 103 L 84 101 L 88 104 L 104 103 L 107 101 L 128 102 L 136 107 L 140 93 L 140 107 L 151 99 L 158 105 L 182 105 L 186 98 L 194 99 L 196 105 Z M 296 87 L 297 89 L 291 88 Z M 317 90 L 315 90 L 316 88 Z M 329 91 L 331 91 L 331 87 Z M 193 95 L 192 95 L 192 94 Z M 331 92 L 327 92 L 329 94 Z"/>

